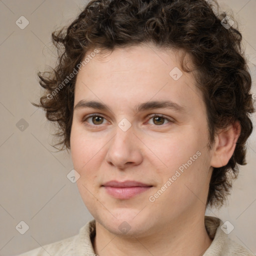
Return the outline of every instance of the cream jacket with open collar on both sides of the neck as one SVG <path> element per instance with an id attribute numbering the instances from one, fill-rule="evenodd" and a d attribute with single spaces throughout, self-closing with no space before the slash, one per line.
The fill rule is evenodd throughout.
<path id="1" fill-rule="evenodd" d="M 208 235 L 213 239 L 202 256 L 253 256 L 254 254 L 231 240 L 220 228 L 223 222 L 204 216 Z M 90 238 L 95 235 L 95 220 L 88 221 L 77 235 L 53 242 L 17 256 L 96 256 Z M 158 256 L 158 255 L 157 255 Z"/>

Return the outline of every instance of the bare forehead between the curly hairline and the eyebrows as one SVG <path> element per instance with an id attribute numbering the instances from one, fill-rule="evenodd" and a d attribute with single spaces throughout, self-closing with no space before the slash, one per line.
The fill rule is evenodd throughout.
<path id="1" fill-rule="evenodd" d="M 201 97 L 192 73 L 181 68 L 183 57 L 181 50 L 152 44 L 99 50 L 77 74 L 74 103 L 86 97 L 112 104 L 171 99 L 183 105 L 188 98 Z M 184 61 L 192 64 L 188 55 Z"/>

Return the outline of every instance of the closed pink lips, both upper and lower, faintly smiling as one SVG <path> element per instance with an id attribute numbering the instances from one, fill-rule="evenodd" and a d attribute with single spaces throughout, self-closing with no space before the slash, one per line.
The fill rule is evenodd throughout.
<path id="1" fill-rule="evenodd" d="M 133 180 L 123 182 L 111 180 L 104 183 L 102 186 L 109 195 L 116 199 L 129 199 L 152 187 L 152 185 Z"/>

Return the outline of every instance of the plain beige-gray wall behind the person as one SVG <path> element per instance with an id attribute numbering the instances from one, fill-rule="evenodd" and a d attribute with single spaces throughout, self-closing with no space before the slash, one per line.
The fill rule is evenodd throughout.
<path id="1" fill-rule="evenodd" d="M 54 153 L 55 149 L 50 146 L 50 133 L 54 127 L 46 121 L 44 112 L 30 103 L 37 102 L 40 96 L 36 72 L 55 62 L 55 50 L 50 43 L 51 32 L 70 23 L 87 2 L 0 0 L 2 256 L 19 254 L 75 235 L 81 226 L 92 219 L 76 184 L 66 177 L 72 169 L 70 155 L 66 151 Z M 256 0 L 221 0 L 219 3 L 225 9 L 232 9 L 238 21 L 253 78 L 252 92 L 256 93 Z M 24 29 L 15 23 L 20 16 L 29 21 Z M 23 19 L 23 25 L 24 22 Z M 24 126 L 21 128 L 20 125 Z M 254 130 L 247 144 L 248 164 L 240 167 L 228 205 L 220 210 L 206 211 L 206 215 L 232 223 L 234 229 L 229 234 L 230 238 L 253 253 L 256 253 L 255 140 Z M 15 228 L 22 220 L 29 226 L 24 234 Z"/>

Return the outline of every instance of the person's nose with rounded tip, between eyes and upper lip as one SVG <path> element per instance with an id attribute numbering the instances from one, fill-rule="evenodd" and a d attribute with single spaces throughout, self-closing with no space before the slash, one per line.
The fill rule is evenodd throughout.
<path id="1" fill-rule="evenodd" d="M 106 161 L 119 169 L 138 165 L 142 162 L 141 141 L 133 133 L 133 127 L 123 131 L 116 126 L 116 134 L 109 141 Z"/>

